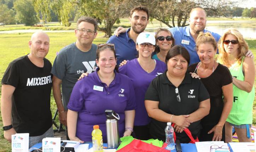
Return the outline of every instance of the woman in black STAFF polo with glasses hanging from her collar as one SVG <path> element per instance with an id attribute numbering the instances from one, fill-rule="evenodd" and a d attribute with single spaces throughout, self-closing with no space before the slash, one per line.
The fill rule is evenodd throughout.
<path id="1" fill-rule="evenodd" d="M 166 122 L 175 123 L 176 139 L 190 142 L 183 131 L 188 128 L 194 139 L 200 133 L 200 120 L 209 114 L 209 94 L 199 79 L 187 72 L 190 56 L 179 45 L 171 48 L 166 56 L 167 71 L 153 79 L 145 95 L 145 107 L 153 118 L 150 134 L 165 141 Z"/>

